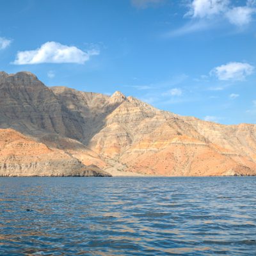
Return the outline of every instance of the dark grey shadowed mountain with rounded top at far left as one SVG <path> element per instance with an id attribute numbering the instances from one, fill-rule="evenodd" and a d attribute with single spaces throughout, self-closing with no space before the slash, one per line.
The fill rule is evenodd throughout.
<path id="1" fill-rule="evenodd" d="M 0 127 L 26 134 L 56 132 L 81 138 L 79 118 L 73 118 L 56 95 L 29 72 L 0 72 Z"/>

